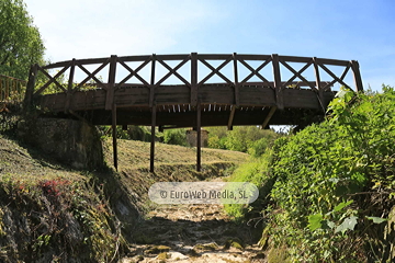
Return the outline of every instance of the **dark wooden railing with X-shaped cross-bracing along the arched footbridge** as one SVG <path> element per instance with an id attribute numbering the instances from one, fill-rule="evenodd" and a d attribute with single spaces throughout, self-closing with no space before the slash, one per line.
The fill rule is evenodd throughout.
<path id="1" fill-rule="evenodd" d="M 340 71 L 335 72 L 334 67 Z M 56 73 L 50 75 L 50 71 L 55 69 L 57 69 Z M 84 76 L 80 81 L 76 81 L 77 70 L 80 76 Z M 353 83 L 349 83 L 345 79 L 350 71 L 353 75 Z M 103 73 L 108 75 L 105 81 L 101 77 Z M 36 84 L 37 75 L 45 76 L 46 81 Z M 306 77 L 307 75 L 308 77 Z M 323 81 L 323 76 L 328 80 Z M 153 106 L 156 88 L 165 84 L 182 84 L 190 88 L 190 103 L 195 106 L 200 87 L 213 83 L 214 79 L 217 84 L 234 87 L 235 105 L 239 104 L 239 91 L 244 87 L 273 89 L 279 108 L 283 108 L 284 89 L 313 90 L 321 100 L 324 92 L 329 91 L 336 83 L 356 91 L 363 90 L 359 64 L 356 60 L 279 56 L 276 54 L 153 54 L 72 59 L 46 66 L 33 65 L 25 103 L 30 105 L 34 98 L 45 93 L 66 93 L 65 110 L 67 110 L 72 94 L 90 87 L 90 89 L 105 90 L 105 108 L 111 110 L 114 93 L 120 88 L 146 87 L 149 89 L 149 106 Z M 128 82 L 131 80 L 133 82 Z"/>

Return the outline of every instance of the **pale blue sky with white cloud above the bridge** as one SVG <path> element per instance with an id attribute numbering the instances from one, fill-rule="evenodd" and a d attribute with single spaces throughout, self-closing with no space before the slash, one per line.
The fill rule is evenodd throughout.
<path id="1" fill-rule="evenodd" d="M 149 54 L 358 60 L 395 87 L 394 0 L 24 0 L 50 62 Z M 323 79 L 324 80 L 324 79 Z"/>

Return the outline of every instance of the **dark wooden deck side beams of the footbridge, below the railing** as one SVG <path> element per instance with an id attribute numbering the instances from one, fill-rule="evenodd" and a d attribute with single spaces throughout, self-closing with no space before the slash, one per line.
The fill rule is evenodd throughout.
<path id="1" fill-rule="evenodd" d="M 196 107 L 190 103 L 190 88 L 185 85 L 160 87 L 156 90 L 157 126 L 195 127 Z M 324 92 L 324 105 L 334 99 L 335 92 Z M 206 84 L 199 90 L 202 126 L 227 126 L 234 110 L 232 125 L 262 125 L 272 106 L 276 105 L 272 88 L 248 85 L 239 90 L 239 105 L 234 103 L 234 88 L 224 84 Z M 323 115 L 316 92 L 307 89 L 284 90 L 284 111 L 278 111 L 268 125 L 298 125 L 301 116 Z M 111 125 L 111 111 L 105 111 L 105 90 L 78 91 L 72 95 L 69 108 L 84 116 L 94 125 Z M 40 98 L 42 108 L 64 112 L 67 94 L 48 94 Z M 149 89 L 123 87 L 114 94 L 119 125 L 151 125 Z"/>

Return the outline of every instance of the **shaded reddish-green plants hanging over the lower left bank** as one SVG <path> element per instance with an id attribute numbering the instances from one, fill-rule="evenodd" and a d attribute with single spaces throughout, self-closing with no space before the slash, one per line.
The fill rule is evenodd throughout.
<path id="1" fill-rule="evenodd" d="M 45 261 L 45 254 L 53 253 L 64 262 L 110 262 L 123 242 L 103 185 L 63 178 L 25 182 L 3 175 L 0 197 L 0 215 L 7 214 L 0 218 L 0 232 L 5 233 L 0 247 L 8 247 L 3 260 Z M 18 244 L 10 245 L 10 240 Z"/>

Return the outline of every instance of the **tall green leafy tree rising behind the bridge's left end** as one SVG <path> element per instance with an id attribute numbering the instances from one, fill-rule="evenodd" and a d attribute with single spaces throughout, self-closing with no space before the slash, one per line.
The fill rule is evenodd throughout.
<path id="1" fill-rule="evenodd" d="M 1 0 L 0 73 L 26 80 L 30 66 L 44 61 L 44 50 L 23 0 Z"/>

